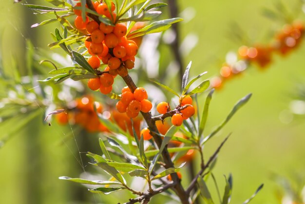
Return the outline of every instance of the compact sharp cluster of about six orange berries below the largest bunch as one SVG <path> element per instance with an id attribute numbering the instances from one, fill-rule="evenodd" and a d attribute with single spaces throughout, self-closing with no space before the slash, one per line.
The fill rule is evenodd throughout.
<path id="1" fill-rule="evenodd" d="M 148 113 L 152 109 L 152 103 L 147 100 L 148 95 L 143 87 L 138 87 L 132 93 L 128 86 L 122 89 L 120 101 L 116 103 L 116 109 L 120 113 L 126 113 L 129 118 L 135 118 L 139 112 Z"/>

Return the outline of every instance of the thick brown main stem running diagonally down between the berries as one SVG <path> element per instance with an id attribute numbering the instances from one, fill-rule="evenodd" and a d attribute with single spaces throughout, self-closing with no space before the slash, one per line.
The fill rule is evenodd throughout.
<path id="1" fill-rule="evenodd" d="M 132 93 L 134 92 L 134 90 L 137 88 L 136 85 L 133 82 L 133 79 L 127 75 L 125 77 L 122 77 L 124 82 L 128 85 L 129 89 L 132 91 Z M 158 148 L 161 147 L 162 144 L 162 139 L 161 137 L 158 136 L 159 131 L 155 125 L 155 121 L 152 120 L 152 115 L 150 113 L 143 113 L 141 112 L 144 120 L 146 121 L 154 142 L 157 144 Z M 165 163 L 165 168 L 171 168 L 173 167 L 173 163 L 172 163 L 172 159 L 170 156 L 170 153 L 167 149 L 167 146 L 163 149 L 162 151 L 162 157 Z M 175 185 L 173 186 L 173 188 L 175 189 L 175 192 L 177 194 L 177 196 L 180 198 L 180 201 L 182 204 L 190 204 L 189 203 L 189 196 L 186 193 L 186 191 L 184 190 L 184 188 L 182 187 L 181 183 L 180 183 L 180 179 L 178 178 L 177 173 L 172 173 L 172 181 L 175 183 Z"/>

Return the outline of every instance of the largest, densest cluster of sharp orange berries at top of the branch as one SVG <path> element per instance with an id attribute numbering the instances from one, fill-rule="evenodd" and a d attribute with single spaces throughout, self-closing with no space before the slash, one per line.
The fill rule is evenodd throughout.
<path id="1" fill-rule="evenodd" d="M 90 79 L 88 87 L 92 90 L 98 90 L 102 94 L 109 94 L 112 91 L 114 77 L 120 75 L 125 77 L 128 74 L 128 69 L 134 67 L 134 56 L 137 54 L 138 46 L 132 40 L 127 40 L 127 27 L 124 23 L 115 23 L 116 14 L 114 13 L 115 5 L 112 2 L 111 11 L 109 11 L 106 3 L 93 3 L 96 13 L 106 16 L 110 19 L 114 26 L 95 20 L 83 21 L 81 10 L 74 9 L 76 14 L 75 26 L 79 30 L 83 30 L 89 36 L 84 44 L 88 53 L 92 55 L 88 59 L 88 63 L 94 69 L 98 69 L 101 65 L 100 60 L 107 64 L 99 78 Z M 81 6 L 81 3 L 76 3 L 76 7 Z"/>

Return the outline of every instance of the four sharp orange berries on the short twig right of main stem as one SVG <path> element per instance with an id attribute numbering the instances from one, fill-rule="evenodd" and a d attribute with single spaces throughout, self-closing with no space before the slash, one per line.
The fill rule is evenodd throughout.
<path id="1" fill-rule="evenodd" d="M 184 95 L 180 98 L 180 104 L 178 107 L 181 108 L 180 111 L 176 112 L 172 115 L 172 124 L 175 126 L 180 126 L 183 123 L 183 120 L 187 120 L 195 113 L 195 108 L 191 105 L 193 100 L 191 99 L 191 96 Z M 171 111 L 171 106 L 168 102 L 160 102 L 157 105 L 157 111 L 160 114 L 165 114 L 169 111 Z"/>

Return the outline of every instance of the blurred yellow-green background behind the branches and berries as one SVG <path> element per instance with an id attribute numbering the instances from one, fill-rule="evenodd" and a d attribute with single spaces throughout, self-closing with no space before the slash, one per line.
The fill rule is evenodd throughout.
<path id="1" fill-rule="evenodd" d="M 41 0 L 27 2 L 39 3 Z M 208 77 L 218 74 L 229 51 L 236 52 L 239 46 L 247 42 L 255 44 L 271 41 L 272 32 L 284 25 L 281 20 L 266 18 L 262 12 L 264 8 L 274 9 L 279 2 L 277 0 L 177 2 L 180 12 L 185 9 L 188 11 L 182 13 L 184 18 L 193 16 L 192 19 L 181 22 L 181 39 L 189 34 L 198 37 L 194 49 L 183 59 L 185 66 L 192 61 L 191 76 L 203 71 L 208 71 Z M 282 2 L 292 19 L 305 20 L 301 1 Z M 30 39 L 36 50 L 49 49 L 47 44 L 52 42 L 49 34 L 54 32 L 56 24 L 38 28 L 30 26 L 51 16 L 52 14 L 33 15 L 21 4 L 14 4 L 13 0 L 1 0 L 0 57 L 5 66 L 11 65 L 11 56 L 14 56 L 19 64 L 24 64 L 25 39 Z M 243 35 L 249 37 L 247 42 L 234 40 L 232 33 L 240 31 L 234 26 L 236 24 Z M 171 54 L 168 50 L 164 53 Z M 305 175 L 305 118 L 293 117 L 288 111 L 297 83 L 304 82 L 304 53 L 305 45 L 301 44 L 285 58 L 275 56 L 273 63 L 266 70 L 251 66 L 243 76 L 227 82 L 213 96 L 207 123 L 208 131 L 224 120 L 235 102 L 248 93 L 253 94 L 247 105 L 205 146 L 205 155 L 209 158 L 224 137 L 232 132 L 214 169 L 220 189 L 225 185 L 223 175 L 233 175 L 232 204 L 245 201 L 261 183 L 265 186 L 252 204 L 277 204 L 277 184 L 270 179 L 270 174 L 276 173 L 289 179 L 293 179 L 296 173 Z M 166 58 L 165 56 L 161 56 L 161 60 Z M 169 84 L 179 87 L 178 77 L 172 76 L 171 79 Z M 5 87 L 1 87 L 0 91 L 4 93 Z M 199 103 L 204 100 L 204 97 L 200 97 Z M 79 154 L 75 140 L 62 143 L 65 135 L 73 129 L 58 126 L 56 122 L 49 127 L 42 122 L 43 111 L 44 109 L 41 109 L 39 117 L 27 123 L 0 148 L 0 203 L 112 204 L 118 202 L 115 200 L 117 197 L 122 199 L 120 202 L 126 201 L 128 195 L 121 196 L 121 191 L 109 197 L 99 196 L 87 192 L 86 187 L 57 179 L 63 175 L 78 177 L 83 169 L 77 163 Z M 22 116 L 16 120 L 16 124 L 21 121 Z M 14 125 L 6 128 L 14 129 Z M 4 137 L 5 132 L 2 134 L 0 136 Z M 97 137 L 93 134 L 85 137 L 76 135 L 75 138 L 78 144 L 97 145 Z M 210 190 L 215 193 L 213 184 L 208 184 L 211 186 Z M 162 203 L 161 199 L 162 196 L 152 203 Z M 217 198 L 214 200 L 217 201 Z"/>

